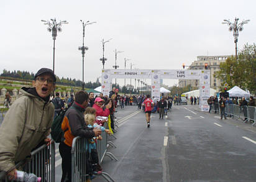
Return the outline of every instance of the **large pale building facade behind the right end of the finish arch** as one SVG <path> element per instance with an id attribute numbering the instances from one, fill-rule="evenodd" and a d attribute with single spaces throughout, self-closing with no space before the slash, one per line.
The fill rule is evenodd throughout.
<path id="1" fill-rule="evenodd" d="M 231 55 L 223 56 L 198 56 L 198 60 L 193 61 L 188 70 L 205 70 L 205 63 L 208 64 L 208 70 L 211 73 L 211 88 L 216 89 L 217 92 L 221 88 L 221 80 L 214 78 L 216 71 L 219 71 L 221 62 L 226 61 Z M 179 87 L 184 88 L 190 85 L 190 89 L 199 89 L 199 80 L 179 80 Z"/>

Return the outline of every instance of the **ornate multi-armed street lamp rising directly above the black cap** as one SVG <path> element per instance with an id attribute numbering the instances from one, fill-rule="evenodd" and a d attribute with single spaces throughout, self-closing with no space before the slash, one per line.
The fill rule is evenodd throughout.
<path id="1" fill-rule="evenodd" d="M 50 22 L 50 20 L 52 22 Z M 41 20 L 44 22 L 45 25 L 48 25 L 48 32 L 52 32 L 52 39 L 53 39 L 53 73 L 55 73 L 54 68 L 55 68 L 55 40 L 57 37 L 57 32 L 62 32 L 62 24 L 68 24 L 66 20 L 60 22 L 57 22 L 56 19 L 50 19 L 50 20 Z"/>

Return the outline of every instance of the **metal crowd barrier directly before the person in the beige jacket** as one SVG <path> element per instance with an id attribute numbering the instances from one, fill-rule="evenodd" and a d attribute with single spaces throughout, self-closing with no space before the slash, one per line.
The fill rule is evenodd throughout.
<path id="1" fill-rule="evenodd" d="M 34 173 L 42 182 L 55 181 L 55 143 L 42 145 L 30 153 L 31 157 L 16 164 L 17 170 Z M 0 172 L 2 181 L 9 181 L 6 172 Z M 4 179 L 4 180 L 3 180 Z"/>

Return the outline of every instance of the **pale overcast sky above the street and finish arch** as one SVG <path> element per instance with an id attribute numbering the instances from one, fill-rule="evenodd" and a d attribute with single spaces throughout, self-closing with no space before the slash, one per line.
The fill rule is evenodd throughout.
<path id="1" fill-rule="evenodd" d="M 256 1 L 18 1 L 2 0 L 0 6 L 0 71 L 36 72 L 53 66 L 53 40 L 40 20 L 67 20 L 55 42 L 55 74 L 82 80 L 83 27 L 85 29 L 85 82 L 101 76 L 101 40 L 105 68 L 127 63 L 140 69 L 181 69 L 198 55 L 234 55 L 234 37 L 223 19 L 250 19 L 239 34 L 238 47 L 256 42 Z M 174 83 L 174 82 L 164 82 Z M 176 83 L 176 82 L 175 82 Z"/>

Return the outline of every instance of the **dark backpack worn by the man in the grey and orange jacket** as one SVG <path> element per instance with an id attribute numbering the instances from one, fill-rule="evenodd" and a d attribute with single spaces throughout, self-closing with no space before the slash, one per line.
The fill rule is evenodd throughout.
<path id="1" fill-rule="evenodd" d="M 58 115 L 53 119 L 53 123 L 51 127 L 51 136 L 52 136 L 52 139 L 55 141 L 55 143 L 62 142 L 62 139 L 64 138 L 64 133 L 66 132 L 66 130 L 68 130 L 66 129 L 64 132 L 62 130 L 62 121 L 64 119 L 66 111 L 68 111 L 68 109 L 64 109 L 60 113 L 60 115 Z"/>

